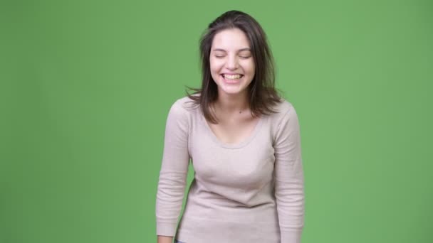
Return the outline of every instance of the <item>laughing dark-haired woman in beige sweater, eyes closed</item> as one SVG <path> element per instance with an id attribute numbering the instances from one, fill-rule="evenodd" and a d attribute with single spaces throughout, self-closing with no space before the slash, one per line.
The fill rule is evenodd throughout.
<path id="1" fill-rule="evenodd" d="M 167 117 L 157 242 L 301 242 L 298 116 L 274 88 L 264 31 L 248 14 L 228 11 L 209 24 L 200 51 L 202 87 L 177 99 Z M 177 228 L 190 159 L 194 180 Z"/>

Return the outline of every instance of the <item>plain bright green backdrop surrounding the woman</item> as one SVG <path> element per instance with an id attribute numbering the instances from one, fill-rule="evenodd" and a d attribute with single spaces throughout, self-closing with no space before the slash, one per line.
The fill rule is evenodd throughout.
<path id="1" fill-rule="evenodd" d="M 432 1 L 0 9 L 0 242 L 156 242 L 167 112 L 232 9 L 264 27 L 298 112 L 303 242 L 433 242 Z"/>

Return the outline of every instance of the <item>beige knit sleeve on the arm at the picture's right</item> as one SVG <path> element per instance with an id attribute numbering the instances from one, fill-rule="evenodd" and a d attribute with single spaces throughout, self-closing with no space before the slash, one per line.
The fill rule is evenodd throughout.
<path id="1" fill-rule="evenodd" d="M 274 149 L 274 189 L 281 243 L 300 243 L 305 195 L 299 121 L 292 105 L 278 124 Z"/>

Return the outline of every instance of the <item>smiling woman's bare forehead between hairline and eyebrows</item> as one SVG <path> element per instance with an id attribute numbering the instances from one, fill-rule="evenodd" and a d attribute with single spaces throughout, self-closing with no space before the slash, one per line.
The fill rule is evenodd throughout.
<path id="1" fill-rule="evenodd" d="M 212 41 L 212 49 L 239 50 L 250 48 L 249 40 L 244 31 L 239 28 L 230 28 L 216 33 Z"/>

